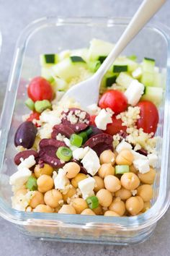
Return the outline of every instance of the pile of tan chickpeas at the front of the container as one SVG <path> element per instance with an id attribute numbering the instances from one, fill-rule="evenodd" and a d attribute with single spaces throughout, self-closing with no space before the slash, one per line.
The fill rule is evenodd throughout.
<path id="1" fill-rule="evenodd" d="M 40 213 L 136 216 L 151 208 L 152 184 L 156 176 L 153 168 L 146 174 L 139 173 L 133 166 L 130 150 L 122 150 L 119 154 L 104 150 L 99 160 L 101 167 L 93 176 L 96 181 L 94 195 L 99 200 L 97 208 L 90 209 L 86 200 L 77 194 L 79 182 L 86 179 L 87 175 L 80 173 L 78 163 L 69 162 L 63 167 L 70 181 L 66 193 L 54 188 L 53 167 L 47 163 L 42 168 L 35 166 L 32 176 L 37 179 L 37 190 L 27 209 Z M 115 175 L 116 165 L 128 165 L 130 172 Z M 26 194 L 27 189 L 20 189 L 20 193 Z"/>

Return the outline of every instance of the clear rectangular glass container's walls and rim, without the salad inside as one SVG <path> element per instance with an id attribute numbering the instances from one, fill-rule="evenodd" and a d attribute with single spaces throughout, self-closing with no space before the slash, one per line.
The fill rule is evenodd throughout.
<path id="1" fill-rule="evenodd" d="M 26 213 L 11 207 L 9 176 L 16 171 L 13 158 L 14 133 L 27 114 L 27 82 L 40 75 L 39 56 L 67 48 L 84 48 L 92 38 L 116 42 L 128 19 L 47 17 L 27 26 L 17 42 L 9 75 L 0 124 L 0 215 L 35 238 L 63 242 L 133 244 L 143 242 L 153 233 L 156 222 L 164 215 L 170 199 L 169 127 L 170 127 L 170 48 L 169 31 L 162 25 L 148 25 L 125 48 L 123 54 L 156 59 L 166 71 L 164 100 L 159 108 L 158 165 L 154 183 L 153 206 L 133 217 L 81 216 L 58 213 Z"/>

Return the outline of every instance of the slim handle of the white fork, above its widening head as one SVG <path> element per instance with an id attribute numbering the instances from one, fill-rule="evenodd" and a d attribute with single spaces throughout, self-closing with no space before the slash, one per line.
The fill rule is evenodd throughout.
<path id="1" fill-rule="evenodd" d="M 148 22 L 148 20 L 153 17 L 153 15 L 161 8 L 161 6 L 166 2 L 166 0 L 144 0 L 140 5 L 138 11 L 133 16 L 128 27 L 126 27 L 124 33 L 122 33 L 120 39 L 117 41 L 115 47 L 104 60 L 101 67 L 96 72 L 96 76 L 102 78 L 111 67 L 113 61 L 120 55 L 125 46 L 128 45 L 130 40 L 134 38 L 136 34 L 143 28 L 143 26 Z"/>

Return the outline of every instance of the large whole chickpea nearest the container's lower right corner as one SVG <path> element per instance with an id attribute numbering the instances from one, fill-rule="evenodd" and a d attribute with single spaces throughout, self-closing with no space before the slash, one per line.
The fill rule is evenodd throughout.
<path id="1" fill-rule="evenodd" d="M 139 196 L 130 197 L 125 202 L 125 207 L 132 216 L 138 215 L 140 210 L 143 209 L 143 205 L 143 199 Z"/>

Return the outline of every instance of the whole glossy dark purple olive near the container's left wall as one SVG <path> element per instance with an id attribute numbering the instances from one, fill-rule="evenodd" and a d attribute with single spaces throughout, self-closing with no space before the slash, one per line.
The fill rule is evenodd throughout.
<path id="1" fill-rule="evenodd" d="M 32 121 L 24 121 L 19 125 L 17 132 L 14 136 L 14 145 L 22 146 L 24 148 L 32 148 L 37 135 L 37 127 Z"/>

